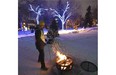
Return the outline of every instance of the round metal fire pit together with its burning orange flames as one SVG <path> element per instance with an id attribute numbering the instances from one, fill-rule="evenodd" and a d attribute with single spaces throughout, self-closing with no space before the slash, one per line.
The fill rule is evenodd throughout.
<path id="1" fill-rule="evenodd" d="M 73 67 L 73 61 L 70 57 L 57 52 L 56 67 L 61 71 L 71 70 Z"/>

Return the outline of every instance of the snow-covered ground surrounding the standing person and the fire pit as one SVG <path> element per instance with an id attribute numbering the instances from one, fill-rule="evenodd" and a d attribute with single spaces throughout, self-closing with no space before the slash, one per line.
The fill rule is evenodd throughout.
<path id="1" fill-rule="evenodd" d="M 47 31 L 46 31 L 47 32 Z M 61 52 L 70 55 L 77 60 L 80 65 L 82 61 L 90 61 L 97 65 L 98 55 L 98 29 L 97 27 L 87 28 L 83 31 L 67 30 L 59 31 L 60 37 L 56 38 Z M 38 51 L 35 48 L 34 33 L 20 33 L 18 36 L 18 75 L 58 75 L 53 73 L 53 60 L 56 56 L 51 49 L 51 45 L 45 46 L 45 62 L 49 68 L 48 71 L 40 70 L 40 63 L 37 63 Z M 78 68 L 78 67 L 77 67 Z M 80 70 L 80 74 L 77 71 Z M 77 69 L 73 74 L 64 75 L 97 75 L 97 72 L 86 72 Z"/>

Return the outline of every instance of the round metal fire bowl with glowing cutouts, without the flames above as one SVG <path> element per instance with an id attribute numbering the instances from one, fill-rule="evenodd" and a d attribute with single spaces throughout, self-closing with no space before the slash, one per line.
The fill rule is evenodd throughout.
<path id="1" fill-rule="evenodd" d="M 57 60 L 58 60 L 58 58 L 56 58 L 56 61 Z M 63 67 L 63 68 L 65 67 L 66 69 L 63 70 L 63 69 L 61 69 L 61 67 Z M 56 62 L 56 68 L 60 71 L 69 71 L 72 69 L 72 67 L 73 67 L 73 61 L 70 57 L 67 57 L 67 60 L 61 61 L 59 63 Z"/>

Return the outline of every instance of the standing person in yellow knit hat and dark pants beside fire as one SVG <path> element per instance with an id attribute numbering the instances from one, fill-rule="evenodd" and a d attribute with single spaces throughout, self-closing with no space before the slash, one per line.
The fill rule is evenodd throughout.
<path id="1" fill-rule="evenodd" d="M 46 45 L 45 36 L 43 32 L 44 25 L 45 23 L 43 21 L 40 21 L 40 24 L 37 25 L 35 28 L 35 45 L 36 49 L 39 51 L 38 62 L 41 63 L 41 69 L 48 70 L 48 68 L 45 66 L 44 61 L 44 46 Z"/>

